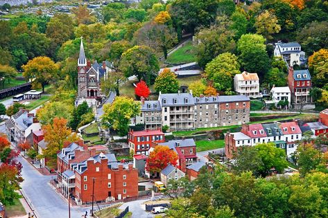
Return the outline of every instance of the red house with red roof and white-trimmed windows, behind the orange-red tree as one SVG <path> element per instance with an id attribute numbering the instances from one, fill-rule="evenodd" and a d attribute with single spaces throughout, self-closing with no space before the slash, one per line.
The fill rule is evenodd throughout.
<path id="1" fill-rule="evenodd" d="M 128 133 L 130 151 L 135 152 L 135 154 L 144 154 L 148 156 L 148 150 L 152 142 L 165 142 L 164 133 L 160 129 L 146 129 L 144 131 L 130 130 Z"/>

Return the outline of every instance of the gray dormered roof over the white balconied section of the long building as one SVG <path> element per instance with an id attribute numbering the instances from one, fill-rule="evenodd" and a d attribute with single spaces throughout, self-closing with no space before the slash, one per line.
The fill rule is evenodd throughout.
<path id="1" fill-rule="evenodd" d="M 195 105 L 191 93 L 160 94 L 158 100 L 162 107 Z"/>

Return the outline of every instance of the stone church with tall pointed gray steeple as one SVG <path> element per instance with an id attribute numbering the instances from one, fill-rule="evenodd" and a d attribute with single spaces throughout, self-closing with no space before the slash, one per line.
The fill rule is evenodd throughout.
<path id="1" fill-rule="evenodd" d="M 101 79 L 105 80 L 113 71 L 111 62 L 104 61 L 102 64 L 91 64 L 85 57 L 83 39 L 81 37 L 80 54 L 78 55 L 78 99 L 101 100 Z M 95 102 L 95 101 L 92 101 Z"/>

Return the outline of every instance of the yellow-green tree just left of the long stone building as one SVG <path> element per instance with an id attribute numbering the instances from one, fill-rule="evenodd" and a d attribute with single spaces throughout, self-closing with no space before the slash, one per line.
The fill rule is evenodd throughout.
<path id="1" fill-rule="evenodd" d="M 103 105 L 102 122 L 105 127 L 119 132 L 120 136 L 128 134 L 130 119 L 140 113 L 140 102 L 125 96 L 116 97 L 112 104 Z"/>

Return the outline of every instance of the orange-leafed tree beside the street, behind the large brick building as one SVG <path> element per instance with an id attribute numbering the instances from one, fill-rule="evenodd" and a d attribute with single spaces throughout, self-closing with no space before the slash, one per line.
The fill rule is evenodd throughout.
<path id="1" fill-rule="evenodd" d="M 40 158 L 47 158 L 49 167 L 54 168 L 57 152 L 62 149 L 64 141 L 74 142 L 79 140 L 79 137 L 67 127 L 67 120 L 64 118 L 53 118 L 53 123 L 43 125 L 42 130 L 44 131 L 44 141 L 48 145 Z"/>

